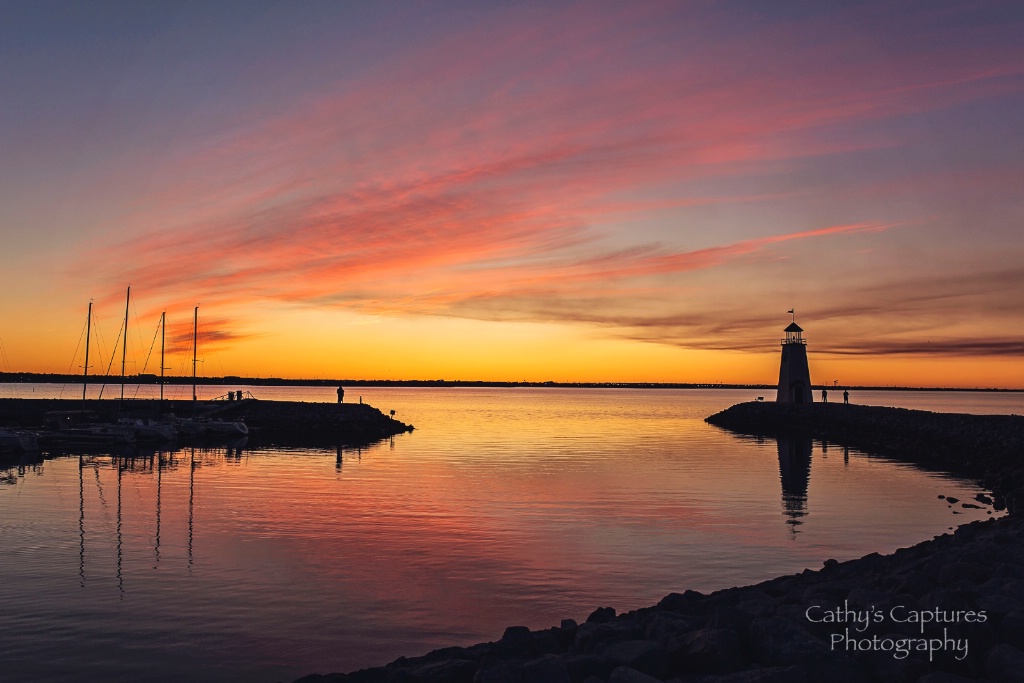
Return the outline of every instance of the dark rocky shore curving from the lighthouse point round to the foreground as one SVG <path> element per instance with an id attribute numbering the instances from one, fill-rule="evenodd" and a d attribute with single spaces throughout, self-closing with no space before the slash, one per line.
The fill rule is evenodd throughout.
<path id="1" fill-rule="evenodd" d="M 759 435 L 796 430 L 988 478 L 1011 512 L 1024 501 L 1016 416 L 743 403 L 709 422 Z M 584 624 L 513 626 L 494 642 L 296 683 L 956 683 L 1021 681 L 1022 672 L 1024 515 L 1011 514 L 887 556 L 673 593 L 623 614 L 599 607 Z"/>

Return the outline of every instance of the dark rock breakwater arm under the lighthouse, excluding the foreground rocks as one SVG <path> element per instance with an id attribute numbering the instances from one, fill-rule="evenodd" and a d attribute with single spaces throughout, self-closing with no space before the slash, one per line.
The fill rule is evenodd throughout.
<path id="1" fill-rule="evenodd" d="M 707 419 L 758 436 L 803 434 L 979 480 L 996 508 L 1024 509 L 1024 417 L 845 403 L 738 403 Z"/>

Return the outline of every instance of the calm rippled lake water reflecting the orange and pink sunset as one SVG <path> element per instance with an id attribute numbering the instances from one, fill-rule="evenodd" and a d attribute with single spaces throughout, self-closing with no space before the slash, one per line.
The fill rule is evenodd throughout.
<path id="1" fill-rule="evenodd" d="M 250 390 L 334 400 L 331 387 Z M 889 552 L 988 516 L 938 499 L 972 499 L 967 482 L 703 423 L 754 390 L 353 388 L 346 399 L 360 392 L 416 431 L 340 458 L 180 450 L 3 471 L 0 678 L 348 671 Z M 852 399 L 1024 412 L 1021 394 Z"/>

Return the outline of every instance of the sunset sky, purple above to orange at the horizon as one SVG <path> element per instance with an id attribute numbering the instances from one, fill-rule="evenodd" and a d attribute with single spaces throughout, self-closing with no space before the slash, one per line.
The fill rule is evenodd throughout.
<path id="1" fill-rule="evenodd" d="M 0 371 L 1024 388 L 1017 0 L 0 0 Z"/>

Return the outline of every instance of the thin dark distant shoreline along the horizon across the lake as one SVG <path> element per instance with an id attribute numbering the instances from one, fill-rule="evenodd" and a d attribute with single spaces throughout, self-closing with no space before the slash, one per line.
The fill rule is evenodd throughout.
<path id="1" fill-rule="evenodd" d="M 96 375 L 87 378 L 88 384 L 120 384 L 119 375 Z M 160 384 L 156 375 L 129 375 L 125 384 Z M 188 385 L 191 377 L 166 376 L 164 384 Z M 59 375 L 47 373 L 0 373 L 0 384 L 81 384 L 81 375 Z M 492 382 L 484 380 L 353 380 L 353 379 L 289 379 L 282 377 L 197 377 L 195 383 L 203 386 L 379 386 L 379 387 L 485 387 L 485 388 L 566 388 L 566 389 L 757 389 L 774 391 L 774 384 L 728 384 L 722 382 Z M 999 387 L 912 387 L 912 386 L 859 386 L 815 384 L 815 389 L 844 388 L 856 391 L 952 391 L 1024 393 L 1022 389 Z"/>

